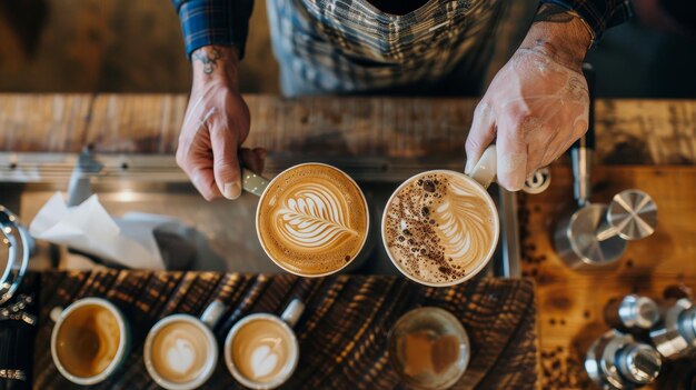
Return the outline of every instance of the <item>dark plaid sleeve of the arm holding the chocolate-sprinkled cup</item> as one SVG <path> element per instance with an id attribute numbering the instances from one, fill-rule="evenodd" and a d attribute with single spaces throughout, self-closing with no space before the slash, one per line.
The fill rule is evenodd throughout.
<path id="1" fill-rule="evenodd" d="M 576 12 L 589 27 L 595 43 L 604 31 L 633 17 L 629 0 L 541 0 Z"/>

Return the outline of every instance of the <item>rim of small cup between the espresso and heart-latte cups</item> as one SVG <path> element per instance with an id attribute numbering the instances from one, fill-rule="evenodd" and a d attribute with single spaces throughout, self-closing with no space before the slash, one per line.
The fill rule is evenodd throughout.
<path id="1" fill-rule="evenodd" d="M 208 340 L 208 344 L 210 346 L 210 353 L 208 353 L 208 357 L 206 358 L 203 372 L 200 376 L 196 377 L 193 380 L 183 383 L 171 382 L 162 378 L 162 376 L 157 372 L 157 370 L 155 369 L 155 364 L 152 363 L 151 349 L 152 342 L 155 341 L 155 336 L 157 336 L 157 333 L 163 327 L 172 322 L 188 322 L 196 326 L 203 332 L 203 334 L 206 334 L 206 339 Z M 148 336 L 145 339 L 145 344 L 142 347 L 142 360 L 145 362 L 145 368 L 148 371 L 148 374 L 150 374 L 150 378 L 152 378 L 152 380 L 162 388 L 169 390 L 196 389 L 202 386 L 208 379 L 210 379 L 210 377 L 215 372 L 215 368 L 218 364 L 218 342 L 215 338 L 215 334 L 212 334 L 210 328 L 208 328 L 208 326 L 206 326 L 200 319 L 186 313 L 171 314 L 157 321 L 157 323 L 155 323 L 155 326 L 152 326 L 152 328 L 150 328 L 150 330 L 148 331 Z"/>

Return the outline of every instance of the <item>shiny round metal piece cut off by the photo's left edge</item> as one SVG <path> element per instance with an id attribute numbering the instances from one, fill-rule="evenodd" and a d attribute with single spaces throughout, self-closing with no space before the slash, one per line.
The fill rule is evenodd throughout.
<path id="1" fill-rule="evenodd" d="M 19 218 L 0 206 L 0 304 L 12 298 L 22 281 L 29 263 L 30 242 Z"/>

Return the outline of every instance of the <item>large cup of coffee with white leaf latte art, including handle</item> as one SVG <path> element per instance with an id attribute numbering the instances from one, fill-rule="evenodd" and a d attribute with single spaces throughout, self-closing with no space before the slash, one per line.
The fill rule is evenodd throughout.
<path id="1" fill-rule="evenodd" d="M 325 277 L 348 267 L 365 247 L 369 230 L 365 194 L 338 168 L 302 163 L 271 181 L 245 169 L 242 183 L 260 197 L 259 241 L 284 270 Z"/>

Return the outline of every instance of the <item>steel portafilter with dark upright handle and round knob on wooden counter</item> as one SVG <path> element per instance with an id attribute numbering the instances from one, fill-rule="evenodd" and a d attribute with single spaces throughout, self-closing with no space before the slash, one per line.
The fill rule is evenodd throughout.
<path id="1" fill-rule="evenodd" d="M 590 169 L 595 146 L 594 71 L 583 66 L 589 88 L 589 128 L 573 144 L 575 211 L 565 216 L 554 233 L 558 256 L 574 269 L 596 269 L 616 263 L 626 251 L 627 241 L 653 234 L 657 226 L 657 206 L 640 190 L 625 190 L 609 204 L 591 203 Z"/>

